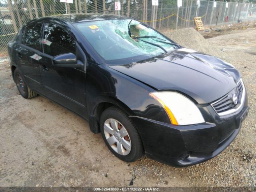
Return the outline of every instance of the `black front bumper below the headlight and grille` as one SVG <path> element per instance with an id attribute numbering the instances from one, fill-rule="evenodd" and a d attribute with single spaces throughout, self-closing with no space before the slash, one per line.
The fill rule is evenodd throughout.
<path id="1" fill-rule="evenodd" d="M 247 96 L 241 110 L 228 116 L 218 116 L 210 105 L 198 108 L 206 122 L 189 126 L 131 116 L 146 155 L 175 167 L 207 161 L 220 154 L 236 138 L 249 109 Z"/>

